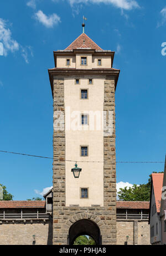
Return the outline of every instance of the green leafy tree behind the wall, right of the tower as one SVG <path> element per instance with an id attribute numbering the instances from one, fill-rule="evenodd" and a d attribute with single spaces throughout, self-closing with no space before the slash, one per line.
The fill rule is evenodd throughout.
<path id="1" fill-rule="evenodd" d="M 157 172 L 153 172 L 157 173 Z M 163 172 L 158 172 L 163 173 Z M 120 188 L 118 192 L 118 197 L 122 201 L 150 201 L 151 197 L 151 183 L 152 183 L 152 175 L 149 175 L 148 183 L 136 185 L 134 184 L 132 187 Z"/>

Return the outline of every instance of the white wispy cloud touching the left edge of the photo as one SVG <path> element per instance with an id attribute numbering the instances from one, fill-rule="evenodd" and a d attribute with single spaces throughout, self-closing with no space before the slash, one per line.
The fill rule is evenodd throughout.
<path id="1" fill-rule="evenodd" d="M 3 44 L 3 54 L 7 56 L 8 52 L 19 50 L 19 43 L 12 38 L 12 33 L 7 28 L 7 22 L 0 18 L 0 42 Z"/>

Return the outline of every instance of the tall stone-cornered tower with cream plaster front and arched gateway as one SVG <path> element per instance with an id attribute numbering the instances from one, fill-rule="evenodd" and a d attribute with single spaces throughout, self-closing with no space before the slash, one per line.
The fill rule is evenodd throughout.
<path id="1" fill-rule="evenodd" d="M 82 33 L 54 52 L 49 69 L 54 100 L 53 244 L 81 234 L 116 244 L 114 52 Z M 71 171 L 75 162 L 79 178 Z M 78 173 L 78 172 L 77 172 Z"/>

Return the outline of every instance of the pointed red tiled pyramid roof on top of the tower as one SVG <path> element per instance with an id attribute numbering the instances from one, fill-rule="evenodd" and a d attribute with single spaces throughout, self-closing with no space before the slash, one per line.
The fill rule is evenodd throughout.
<path id="1" fill-rule="evenodd" d="M 85 33 L 82 33 L 72 42 L 65 50 L 72 50 L 77 48 L 90 48 L 95 50 L 102 50 L 92 39 Z"/>

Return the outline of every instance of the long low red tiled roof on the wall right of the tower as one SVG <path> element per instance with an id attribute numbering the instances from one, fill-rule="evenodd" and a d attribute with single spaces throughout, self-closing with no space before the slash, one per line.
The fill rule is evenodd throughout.
<path id="1" fill-rule="evenodd" d="M 123 209 L 149 209 L 149 202 L 117 201 L 116 206 Z"/>

